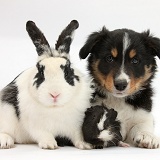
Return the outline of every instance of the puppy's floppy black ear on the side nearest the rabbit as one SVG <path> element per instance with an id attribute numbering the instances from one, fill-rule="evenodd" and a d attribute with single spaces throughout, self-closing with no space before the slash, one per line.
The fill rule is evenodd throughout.
<path id="1" fill-rule="evenodd" d="M 93 52 L 93 47 L 106 35 L 108 35 L 109 31 L 103 27 L 99 32 L 93 32 L 87 38 L 85 45 L 80 49 L 79 57 L 81 59 L 85 59 L 89 53 Z"/>

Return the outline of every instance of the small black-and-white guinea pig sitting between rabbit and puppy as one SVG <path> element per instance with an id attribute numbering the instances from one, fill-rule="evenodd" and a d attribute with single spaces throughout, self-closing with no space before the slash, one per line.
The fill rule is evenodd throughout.
<path id="1" fill-rule="evenodd" d="M 111 146 L 129 147 L 127 143 L 122 142 L 121 123 L 116 118 L 117 112 L 108 109 L 104 104 L 88 108 L 82 125 L 84 140 L 95 149 Z"/>

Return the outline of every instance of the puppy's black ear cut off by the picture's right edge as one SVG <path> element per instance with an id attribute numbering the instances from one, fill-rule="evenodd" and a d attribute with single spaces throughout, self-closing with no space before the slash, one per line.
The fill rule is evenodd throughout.
<path id="1" fill-rule="evenodd" d="M 142 38 L 146 48 L 149 49 L 150 53 L 154 56 L 158 56 L 160 59 L 160 39 L 152 36 L 149 30 L 142 33 Z"/>

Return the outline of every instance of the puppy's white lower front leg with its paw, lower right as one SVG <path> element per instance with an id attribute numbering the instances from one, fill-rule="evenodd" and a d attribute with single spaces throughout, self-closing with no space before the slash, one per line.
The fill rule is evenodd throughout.
<path id="1" fill-rule="evenodd" d="M 131 128 L 127 141 L 141 148 L 159 148 L 160 139 L 154 135 L 153 130 L 153 119 L 150 116 L 150 118 L 139 121 Z"/>

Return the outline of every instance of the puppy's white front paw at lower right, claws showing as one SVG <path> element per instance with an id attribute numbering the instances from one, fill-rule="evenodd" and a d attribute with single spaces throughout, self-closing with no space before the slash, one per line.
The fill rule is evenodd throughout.
<path id="1" fill-rule="evenodd" d="M 141 148 L 155 149 L 160 147 L 160 140 L 155 135 L 147 132 L 136 134 L 133 138 L 136 146 Z"/>

